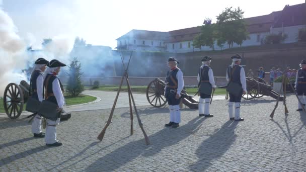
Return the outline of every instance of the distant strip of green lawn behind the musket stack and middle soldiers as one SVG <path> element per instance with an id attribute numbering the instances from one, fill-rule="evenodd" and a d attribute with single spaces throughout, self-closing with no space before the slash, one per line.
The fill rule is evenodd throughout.
<path id="1" fill-rule="evenodd" d="M 145 93 L 147 86 L 131 86 L 133 93 Z M 91 89 L 91 87 L 85 87 L 86 89 Z M 119 85 L 100 85 L 99 89 L 100 91 L 118 91 Z M 127 92 L 127 86 L 122 86 L 121 91 Z M 189 95 L 194 96 L 198 92 L 197 88 L 187 88 L 187 93 Z M 226 90 L 225 89 L 216 89 L 214 92 L 214 95 L 225 95 Z"/>

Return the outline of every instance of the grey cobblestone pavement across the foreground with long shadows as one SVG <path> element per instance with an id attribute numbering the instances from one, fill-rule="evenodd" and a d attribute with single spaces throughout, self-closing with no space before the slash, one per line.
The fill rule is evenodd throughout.
<path id="1" fill-rule="evenodd" d="M 289 115 L 269 98 L 242 103 L 243 122 L 228 121 L 227 101 L 211 105 L 213 118 L 182 109 L 177 129 L 164 128 L 168 108 L 139 107 L 150 145 L 128 108 L 117 108 L 102 142 L 96 137 L 110 110 L 74 112 L 57 127 L 60 147 L 35 139 L 24 119 L 0 118 L 0 171 L 303 171 L 306 169 L 306 113 L 287 99 Z"/>

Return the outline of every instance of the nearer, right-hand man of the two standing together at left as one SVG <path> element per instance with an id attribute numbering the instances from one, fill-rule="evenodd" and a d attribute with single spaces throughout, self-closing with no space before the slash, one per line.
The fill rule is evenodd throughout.
<path id="1" fill-rule="evenodd" d="M 62 143 L 56 140 L 56 125 L 59 124 L 60 113 L 65 101 L 62 84 L 56 75 L 59 73 L 60 67 L 66 65 L 54 59 L 51 60 L 47 66 L 49 68 L 46 71 L 44 81 L 46 88 L 45 99 L 57 105 L 58 115 L 49 119 L 47 118 L 45 142 L 47 146 L 60 146 Z"/>

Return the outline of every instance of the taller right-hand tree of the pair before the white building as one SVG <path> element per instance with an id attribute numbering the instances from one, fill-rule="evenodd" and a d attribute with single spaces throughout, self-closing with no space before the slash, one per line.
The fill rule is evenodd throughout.
<path id="1" fill-rule="evenodd" d="M 233 48 L 233 44 L 242 45 L 243 41 L 248 38 L 246 24 L 243 20 L 244 12 L 238 7 L 225 8 L 225 10 L 217 16 L 216 30 L 217 39 L 221 39 L 228 44 L 228 48 Z M 219 43 L 221 43 L 219 42 Z M 221 44 L 220 44 L 221 45 Z"/>

